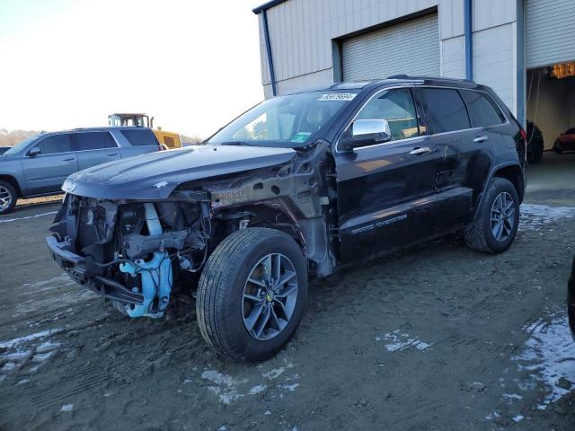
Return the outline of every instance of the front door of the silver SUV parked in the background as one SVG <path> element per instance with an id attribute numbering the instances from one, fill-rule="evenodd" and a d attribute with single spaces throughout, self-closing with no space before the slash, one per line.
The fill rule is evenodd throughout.
<path id="1" fill-rule="evenodd" d="M 69 134 L 47 136 L 31 148 L 39 154 L 24 155 L 22 167 L 30 194 L 50 193 L 62 186 L 68 175 L 78 170 Z"/>

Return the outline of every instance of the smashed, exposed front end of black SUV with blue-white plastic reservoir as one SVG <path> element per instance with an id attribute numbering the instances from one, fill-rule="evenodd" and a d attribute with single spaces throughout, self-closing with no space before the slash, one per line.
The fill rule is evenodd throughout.
<path id="1" fill-rule="evenodd" d="M 68 194 L 47 238 L 76 282 L 130 317 L 161 317 L 174 277 L 196 272 L 207 253 L 209 200 L 114 201 Z"/>

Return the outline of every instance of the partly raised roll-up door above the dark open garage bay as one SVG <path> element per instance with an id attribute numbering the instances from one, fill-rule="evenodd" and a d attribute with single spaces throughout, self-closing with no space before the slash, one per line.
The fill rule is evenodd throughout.
<path id="1" fill-rule="evenodd" d="M 527 68 L 575 60 L 575 0 L 526 0 Z"/>

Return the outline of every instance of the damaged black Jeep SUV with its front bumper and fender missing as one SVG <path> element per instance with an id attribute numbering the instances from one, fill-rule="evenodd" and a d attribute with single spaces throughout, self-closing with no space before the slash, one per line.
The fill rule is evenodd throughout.
<path id="1" fill-rule="evenodd" d="M 396 76 L 264 101 L 206 145 L 75 173 L 49 249 L 130 317 L 196 300 L 211 347 L 274 355 L 308 277 L 457 230 L 515 237 L 526 134 L 490 88 Z"/>

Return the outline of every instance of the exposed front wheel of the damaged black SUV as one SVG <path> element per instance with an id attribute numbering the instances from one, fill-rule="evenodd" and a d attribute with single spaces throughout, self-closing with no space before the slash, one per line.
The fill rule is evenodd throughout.
<path id="1" fill-rule="evenodd" d="M 297 329 L 307 297 L 305 257 L 286 233 L 261 227 L 232 233 L 199 278 L 201 335 L 237 361 L 274 356 Z"/>

